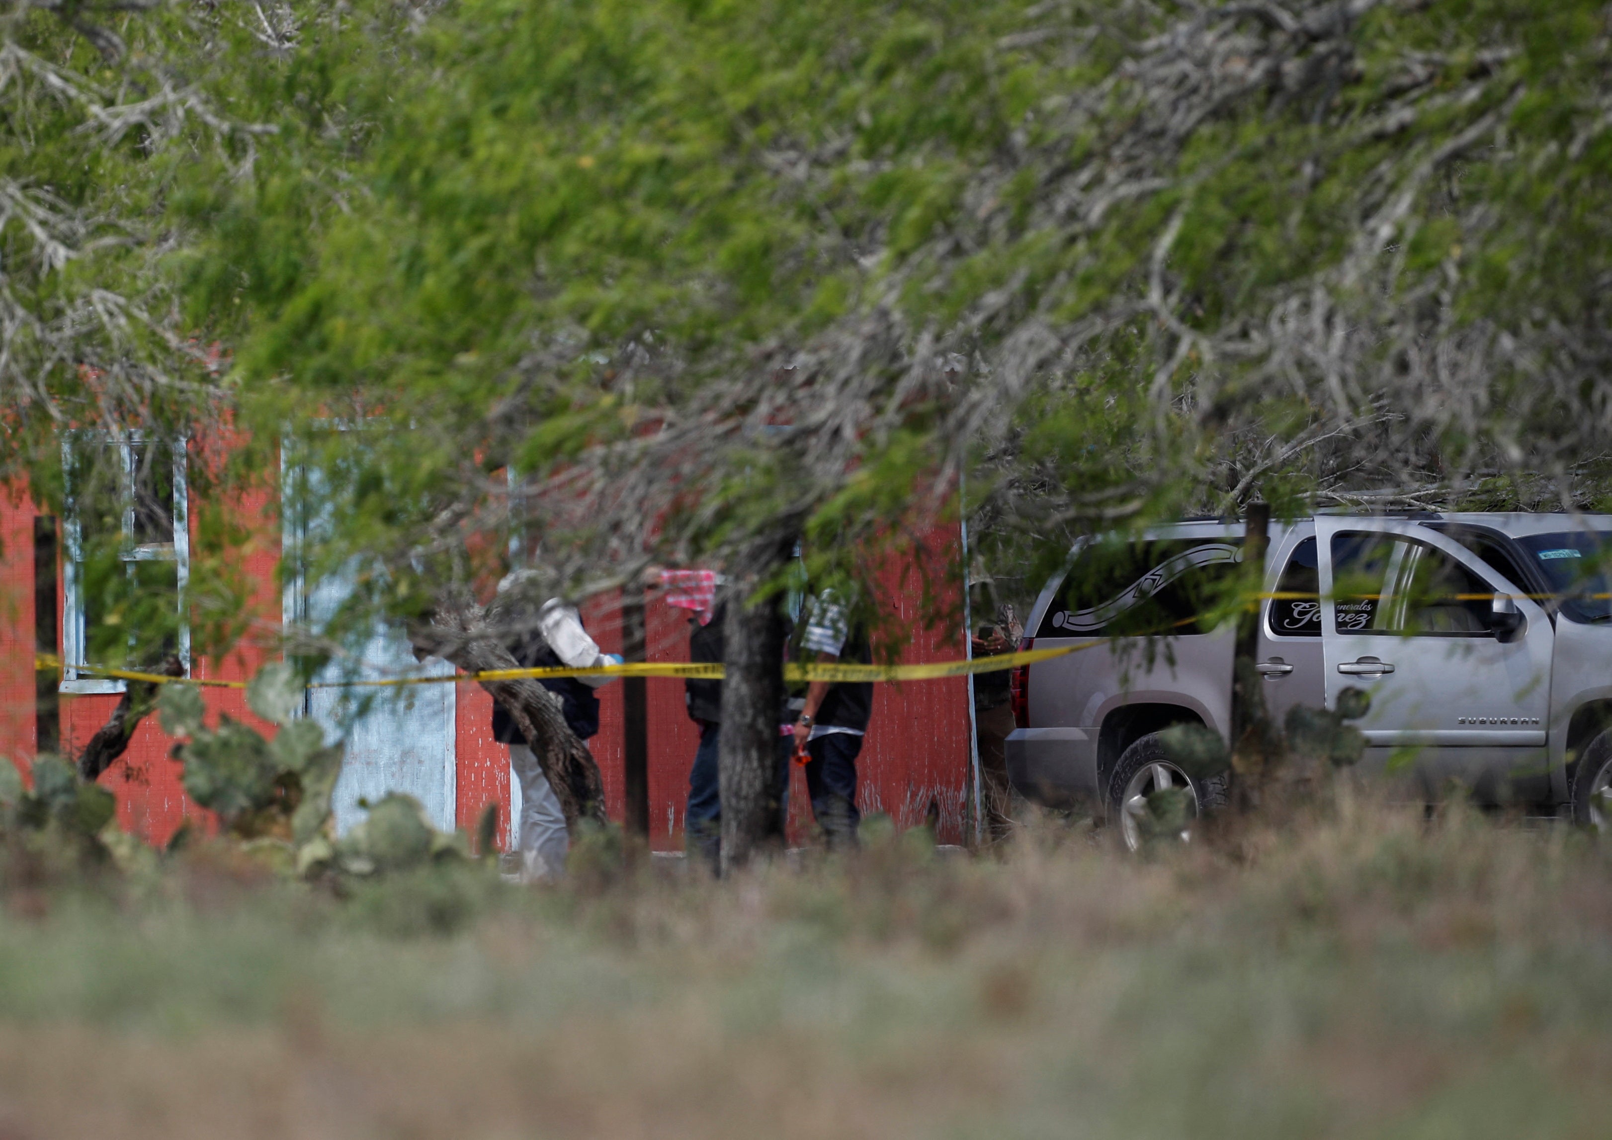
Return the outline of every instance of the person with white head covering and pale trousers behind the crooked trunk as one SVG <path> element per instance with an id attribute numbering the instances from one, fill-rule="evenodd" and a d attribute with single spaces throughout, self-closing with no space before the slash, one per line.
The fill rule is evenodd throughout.
<path id="1" fill-rule="evenodd" d="M 513 577 L 498 585 L 503 593 Z M 559 598 L 550 598 L 537 614 L 537 629 L 521 635 L 509 647 L 516 661 L 527 669 L 572 666 L 577 669 L 619 664 L 614 653 L 601 653 L 598 643 L 582 627 L 575 606 Z M 556 677 L 538 680 L 564 708 L 566 724 L 587 743 L 600 730 L 600 698 L 596 689 L 614 677 Z M 493 739 L 509 745 L 509 766 L 521 785 L 519 850 L 521 879 L 542 882 L 558 879 L 566 869 L 566 851 L 571 840 L 566 835 L 566 814 L 559 809 L 559 797 L 548 785 L 548 777 L 537 763 L 527 739 L 514 718 L 501 705 L 493 705 Z"/>

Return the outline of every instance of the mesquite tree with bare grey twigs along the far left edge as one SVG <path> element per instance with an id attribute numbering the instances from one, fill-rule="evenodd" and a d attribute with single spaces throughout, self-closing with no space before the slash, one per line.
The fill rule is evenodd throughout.
<path id="1" fill-rule="evenodd" d="M 184 234 L 168 200 L 190 158 L 239 174 L 274 129 L 208 90 L 216 24 L 155 3 L 0 5 L 0 479 L 47 519 L 74 500 L 68 553 L 105 619 L 89 630 L 93 658 L 164 674 L 181 669 L 174 590 L 131 571 L 119 521 L 140 511 L 153 460 L 227 413 L 216 347 L 179 316 L 166 260 Z M 132 479 L 108 481 L 129 456 Z M 193 487 L 206 476 L 203 463 Z M 202 640 L 242 629 L 231 564 L 219 543 L 193 543 Z M 123 755 L 152 700 L 150 685 L 129 685 L 77 756 L 84 776 Z"/>

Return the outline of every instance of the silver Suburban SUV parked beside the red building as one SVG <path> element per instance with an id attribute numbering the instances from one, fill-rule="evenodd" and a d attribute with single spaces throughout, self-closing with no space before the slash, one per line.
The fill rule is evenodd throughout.
<path id="1" fill-rule="evenodd" d="M 1256 668 L 1278 724 L 1364 689 L 1361 766 L 1435 798 L 1612 822 L 1612 516 L 1327 516 L 1272 524 Z M 1215 806 L 1220 780 L 1174 763 L 1159 734 L 1227 739 L 1235 621 L 1225 582 L 1243 524 L 1188 521 L 1075 545 L 1041 592 L 1025 647 L 1091 648 L 1014 671 L 1008 771 L 1025 797 L 1091 805 L 1136 840 L 1161 787 Z M 1220 619 L 1217 619 L 1217 611 Z"/>

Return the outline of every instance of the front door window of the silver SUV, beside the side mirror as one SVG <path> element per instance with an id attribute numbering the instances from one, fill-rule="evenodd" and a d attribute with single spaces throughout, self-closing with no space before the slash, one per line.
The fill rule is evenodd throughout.
<path id="1" fill-rule="evenodd" d="M 1494 589 L 1423 542 L 1338 534 L 1332 572 L 1340 634 L 1489 637 Z"/>

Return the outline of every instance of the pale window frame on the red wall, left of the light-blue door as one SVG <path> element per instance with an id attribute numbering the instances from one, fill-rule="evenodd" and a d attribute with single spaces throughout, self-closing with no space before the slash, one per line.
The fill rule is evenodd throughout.
<path id="1" fill-rule="evenodd" d="M 73 447 L 74 443 L 92 443 L 116 447 L 123 458 L 123 532 L 134 534 L 134 450 L 139 443 L 150 442 L 143 432 L 71 432 L 61 439 L 61 472 L 64 479 L 66 513 L 63 530 L 66 551 L 61 560 L 61 692 L 74 695 L 121 693 L 127 682 L 118 677 L 98 677 L 84 672 L 93 664 L 85 659 L 89 647 L 89 630 L 84 626 L 84 532 L 79 522 L 77 503 L 73 492 Z M 190 676 L 190 622 L 185 621 L 185 589 L 190 584 L 190 492 L 185 479 L 187 458 L 185 437 L 171 443 L 174 463 L 174 542 L 145 543 L 129 547 L 123 561 L 172 561 L 179 584 L 179 661 L 184 676 Z"/>

